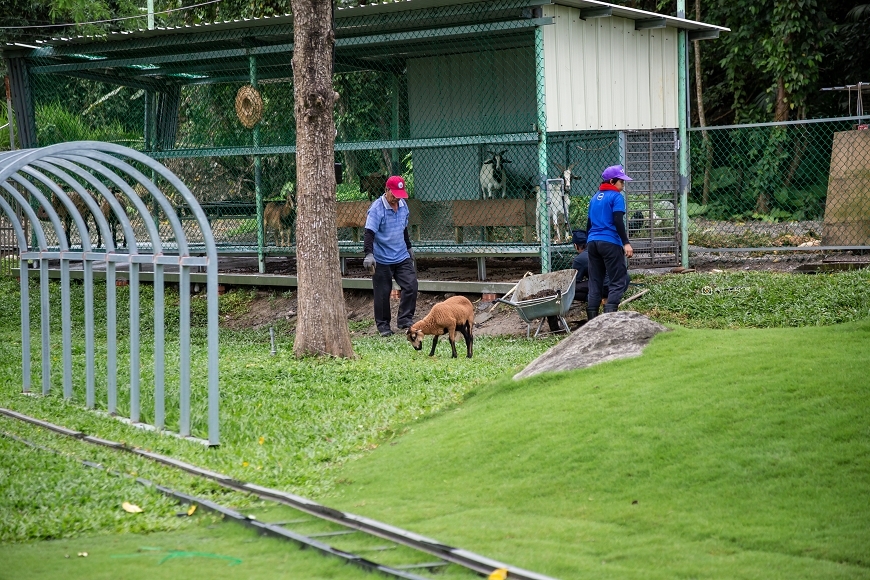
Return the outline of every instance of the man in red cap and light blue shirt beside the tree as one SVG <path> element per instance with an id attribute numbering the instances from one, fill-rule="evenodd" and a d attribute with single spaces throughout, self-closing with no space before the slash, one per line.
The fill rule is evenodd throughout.
<path id="1" fill-rule="evenodd" d="M 366 215 L 363 266 L 372 274 L 375 295 L 375 325 L 381 336 L 391 336 L 390 291 L 393 280 L 401 288 L 396 322 L 400 329 L 411 327 L 417 309 L 417 267 L 408 236 L 411 215 L 405 180 L 394 175 L 387 180 L 384 195 L 376 199 Z"/>

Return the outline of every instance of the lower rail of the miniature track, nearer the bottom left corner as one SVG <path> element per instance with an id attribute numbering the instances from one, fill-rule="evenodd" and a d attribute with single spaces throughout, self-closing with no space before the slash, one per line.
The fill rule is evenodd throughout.
<path id="1" fill-rule="evenodd" d="M 28 445 L 28 446 L 33 447 L 35 449 L 39 449 L 41 451 L 47 451 L 49 453 L 59 453 L 58 451 L 56 451 L 54 449 L 51 449 L 49 447 L 45 447 L 43 445 L 39 445 L 38 443 L 34 443 L 32 441 L 28 441 L 27 439 L 24 439 L 22 437 L 18 437 L 17 435 L 12 435 L 11 433 L 0 432 L 0 435 L 7 437 L 9 439 L 12 439 L 14 441 L 18 441 L 19 443 L 23 443 L 24 445 Z M 378 572 L 382 572 L 388 576 L 393 576 L 395 578 L 403 578 L 404 580 L 428 580 L 427 578 L 425 578 L 423 576 L 417 576 L 416 574 L 412 574 L 410 572 L 405 572 L 403 570 L 398 570 L 396 568 L 384 566 L 383 564 L 378 564 L 377 562 L 372 562 L 371 560 L 368 560 L 366 558 L 363 558 L 363 557 L 358 556 L 356 554 L 353 554 L 351 552 L 345 552 L 344 550 L 338 550 L 338 549 L 333 548 L 332 546 L 330 546 L 328 544 L 324 544 L 323 542 L 318 542 L 317 540 L 315 540 L 309 536 L 297 534 L 297 533 L 292 532 L 292 531 L 290 531 L 286 528 L 283 528 L 279 525 L 257 521 L 256 519 L 253 519 L 249 516 L 246 516 L 246 515 L 242 514 L 241 512 L 237 512 L 234 509 L 228 508 L 226 506 L 222 506 L 219 503 L 216 503 L 216 502 L 213 502 L 211 500 L 204 499 L 201 497 L 189 495 L 189 494 L 186 494 L 186 493 L 183 493 L 180 491 L 175 491 L 174 489 L 171 489 L 171 488 L 168 488 L 166 486 L 154 483 L 153 481 L 151 481 L 149 479 L 145 479 L 144 477 L 135 477 L 132 475 L 127 475 L 126 473 L 119 473 L 117 471 L 113 471 L 111 469 L 108 469 L 107 467 L 105 467 L 99 463 L 94 463 L 93 461 L 87 461 L 84 459 L 80 459 L 79 461 L 82 463 L 82 465 L 85 465 L 86 467 L 100 469 L 100 470 L 105 471 L 106 473 L 108 473 L 110 475 L 114 475 L 116 477 L 130 478 L 140 485 L 156 489 L 157 491 L 159 491 L 160 493 L 162 493 L 163 495 L 165 495 L 167 497 L 171 497 L 171 498 L 176 499 L 180 502 L 202 506 L 204 509 L 207 509 L 207 510 L 215 512 L 215 513 L 219 513 L 227 518 L 230 518 L 231 520 L 234 520 L 238 523 L 244 524 L 248 527 L 254 528 L 261 533 L 270 534 L 272 536 L 276 536 L 276 537 L 282 538 L 284 540 L 291 540 L 293 542 L 296 542 L 297 544 L 299 544 L 303 548 L 314 548 L 315 550 L 318 550 L 325 555 L 335 556 L 337 558 L 341 558 L 345 562 L 347 562 L 349 564 L 354 564 L 356 566 L 360 566 L 360 567 L 366 569 L 367 571 L 378 571 Z"/>

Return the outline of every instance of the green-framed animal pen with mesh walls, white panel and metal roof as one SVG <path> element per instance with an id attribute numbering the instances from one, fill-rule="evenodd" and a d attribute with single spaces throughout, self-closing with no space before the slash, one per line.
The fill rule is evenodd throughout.
<path id="1" fill-rule="evenodd" d="M 540 256 L 547 272 L 573 254 L 571 229 L 585 227 L 600 172 L 617 163 L 634 178 L 632 263 L 677 264 L 678 45 L 725 30 L 592 0 L 336 10 L 343 264 L 362 256 L 370 200 L 401 174 L 418 256 L 476 258 L 481 279 L 486 257 Z M 255 254 L 263 272 L 266 256 L 295 252 L 292 16 L 3 55 L 23 147 L 89 139 L 140 150 L 189 186 L 220 253 Z M 190 223 L 183 204 L 175 211 Z M 168 227 L 161 208 L 151 214 L 137 219 Z"/>

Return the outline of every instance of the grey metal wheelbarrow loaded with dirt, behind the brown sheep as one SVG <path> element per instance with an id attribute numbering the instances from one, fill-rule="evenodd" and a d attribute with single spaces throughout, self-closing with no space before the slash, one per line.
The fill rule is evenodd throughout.
<path id="1" fill-rule="evenodd" d="M 565 315 L 574 302 L 574 281 L 577 270 L 559 270 L 548 274 L 526 276 L 520 280 L 510 293 L 510 299 L 499 299 L 516 309 L 517 314 L 526 323 L 526 337 L 531 334 L 532 322 L 539 320 L 535 336 L 541 332 L 544 319 L 556 316 L 562 330 L 571 334 Z"/>

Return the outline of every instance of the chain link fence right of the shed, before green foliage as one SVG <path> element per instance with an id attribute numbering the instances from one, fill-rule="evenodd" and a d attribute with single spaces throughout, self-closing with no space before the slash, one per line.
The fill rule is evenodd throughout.
<path id="1" fill-rule="evenodd" d="M 693 128 L 690 246 L 870 249 L 867 120 Z"/>

